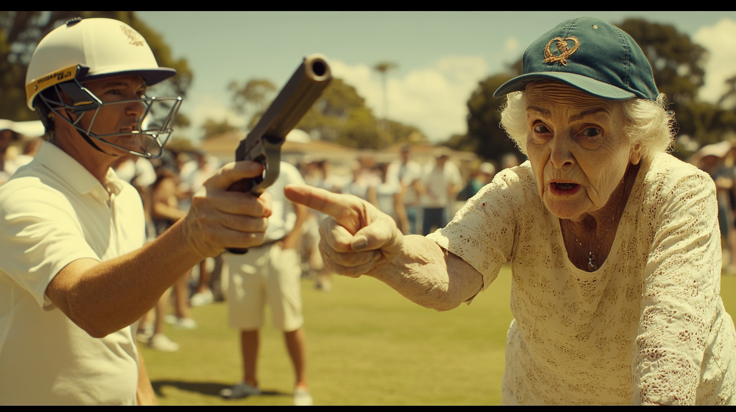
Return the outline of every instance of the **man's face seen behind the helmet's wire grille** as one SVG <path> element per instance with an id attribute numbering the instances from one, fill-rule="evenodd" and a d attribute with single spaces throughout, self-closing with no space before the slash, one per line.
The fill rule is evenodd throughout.
<path id="1" fill-rule="evenodd" d="M 137 100 L 141 99 L 146 93 L 146 83 L 140 76 L 107 77 L 84 82 L 82 85 L 94 93 L 103 103 Z M 138 129 L 138 121 L 141 120 L 144 112 L 145 107 L 142 102 L 102 106 L 94 120 L 91 131 L 96 135 L 132 132 Z M 93 114 L 93 110 L 85 113 L 80 121 L 82 127 L 85 129 L 89 127 Z M 104 140 L 137 152 L 144 149 L 144 139 L 141 135 L 112 136 Z"/>

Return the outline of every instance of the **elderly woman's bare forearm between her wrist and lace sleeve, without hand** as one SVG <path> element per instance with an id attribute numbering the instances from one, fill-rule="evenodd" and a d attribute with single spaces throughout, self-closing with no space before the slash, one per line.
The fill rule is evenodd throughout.
<path id="1" fill-rule="evenodd" d="M 473 266 L 420 235 L 403 238 L 402 253 L 368 274 L 425 308 L 450 310 L 475 296 L 483 277 Z"/>

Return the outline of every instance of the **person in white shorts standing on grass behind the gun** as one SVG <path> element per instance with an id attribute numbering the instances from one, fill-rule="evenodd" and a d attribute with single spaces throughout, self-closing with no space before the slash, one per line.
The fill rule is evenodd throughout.
<path id="1" fill-rule="evenodd" d="M 281 162 L 274 185 L 266 189 L 272 196 L 273 213 L 269 217 L 266 241 L 244 255 L 227 256 L 230 283 L 227 291 L 228 323 L 241 331 L 243 382 L 223 389 L 221 395 L 236 399 L 261 394 L 256 378 L 258 330 L 263 326 L 263 310 L 271 309 L 273 325 L 283 330 L 289 357 L 296 373 L 294 404 L 311 405 L 305 376 L 305 336 L 302 325 L 299 242 L 308 210 L 286 199 L 283 188 L 290 183 L 304 183 L 300 172 Z"/>

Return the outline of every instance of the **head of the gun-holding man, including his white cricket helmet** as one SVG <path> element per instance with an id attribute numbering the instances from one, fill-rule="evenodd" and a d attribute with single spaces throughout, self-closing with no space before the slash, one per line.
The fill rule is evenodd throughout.
<path id="1" fill-rule="evenodd" d="M 110 145 L 158 157 L 181 98 L 147 97 L 144 92 L 174 74 L 173 68 L 158 67 L 146 40 L 127 24 L 109 18 L 73 18 L 36 47 L 26 75 L 27 104 L 38 112 L 51 139 L 61 119 L 100 152 L 118 154 Z M 137 80 L 127 85 L 135 90 L 118 90 L 121 84 L 102 81 L 118 77 Z M 110 108 L 113 105 L 115 109 Z M 125 105 L 138 107 L 125 109 L 125 121 L 102 124 L 102 119 L 110 123 L 112 110 Z"/>

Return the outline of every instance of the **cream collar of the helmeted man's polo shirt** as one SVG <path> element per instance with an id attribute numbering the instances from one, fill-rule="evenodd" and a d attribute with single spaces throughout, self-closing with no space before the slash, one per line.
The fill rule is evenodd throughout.
<path id="1" fill-rule="evenodd" d="M 109 196 L 107 195 L 108 192 L 117 195 L 123 189 L 122 181 L 117 177 L 112 168 L 107 169 L 107 176 L 105 177 L 107 190 L 105 190 L 99 180 L 96 180 L 84 166 L 77 162 L 74 157 L 69 156 L 62 149 L 54 146 L 53 143 L 43 142 L 40 149 L 38 149 L 35 160 L 57 174 L 74 191 L 77 191 L 81 195 L 85 195 L 91 191 L 95 195 L 99 195 L 102 194 L 100 192 L 100 189 L 102 189 L 105 192 L 105 197 L 107 197 Z"/>

